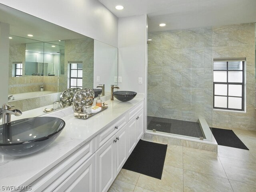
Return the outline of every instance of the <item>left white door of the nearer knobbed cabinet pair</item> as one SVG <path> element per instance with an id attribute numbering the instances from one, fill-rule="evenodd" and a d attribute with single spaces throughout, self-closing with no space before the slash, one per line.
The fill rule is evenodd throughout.
<path id="1" fill-rule="evenodd" d="M 108 190 L 115 178 L 115 135 L 96 151 L 96 192 Z"/>

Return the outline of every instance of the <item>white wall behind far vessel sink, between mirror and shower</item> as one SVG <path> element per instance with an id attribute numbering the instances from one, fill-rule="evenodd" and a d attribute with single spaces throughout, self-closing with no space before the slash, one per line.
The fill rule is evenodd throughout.
<path id="1" fill-rule="evenodd" d="M 118 20 L 118 83 L 120 90 L 144 93 L 147 49 L 147 16 L 132 16 Z M 138 78 L 142 77 L 142 84 Z"/>

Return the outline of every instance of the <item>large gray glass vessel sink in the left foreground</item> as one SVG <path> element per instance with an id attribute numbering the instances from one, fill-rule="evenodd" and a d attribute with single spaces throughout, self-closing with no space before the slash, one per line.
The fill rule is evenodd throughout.
<path id="1" fill-rule="evenodd" d="M 34 117 L 0 125 L 0 154 L 25 156 L 51 144 L 65 126 L 55 117 Z"/>

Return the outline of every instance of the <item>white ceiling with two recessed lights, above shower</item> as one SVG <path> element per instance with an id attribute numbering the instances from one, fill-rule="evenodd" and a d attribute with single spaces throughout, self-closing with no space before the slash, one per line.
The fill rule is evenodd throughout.
<path id="1" fill-rule="evenodd" d="M 150 32 L 256 22 L 256 0 L 99 1 L 118 18 L 147 14 Z M 116 10 L 116 5 L 124 9 Z"/>

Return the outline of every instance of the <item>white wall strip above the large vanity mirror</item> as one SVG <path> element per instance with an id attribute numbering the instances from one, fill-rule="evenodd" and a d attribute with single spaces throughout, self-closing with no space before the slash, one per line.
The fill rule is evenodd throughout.
<path id="1" fill-rule="evenodd" d="M 0 0 L 0 3 L 118 46 L 118 18 L 98 0 Z"/>

